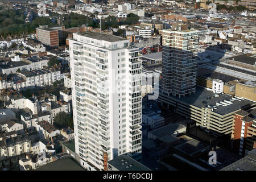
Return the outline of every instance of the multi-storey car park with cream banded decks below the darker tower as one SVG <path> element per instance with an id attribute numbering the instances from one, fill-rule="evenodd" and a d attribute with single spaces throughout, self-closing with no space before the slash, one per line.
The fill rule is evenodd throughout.
<path id="1" fill-rule="evenodd" d="M 158 101 L 173 106 L 176 113 L 193 119 L 197 126 L 216 136 L 231 134 L 234 113 L 256 105 L 254 101 L 216 94 L 199 86 L 195 94 L 181 98 L 159 93 Z"/>

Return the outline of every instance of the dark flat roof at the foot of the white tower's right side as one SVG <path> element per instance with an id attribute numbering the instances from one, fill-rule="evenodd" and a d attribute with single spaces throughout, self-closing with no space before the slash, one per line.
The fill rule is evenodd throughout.
<path id="1" fill-rule="evenodd" d="M 108 163 L 119 171 L 151 171 L 150 168 L 139 163 L 127 154 L 120 155 L 117 158 L 110 160 Z"/>

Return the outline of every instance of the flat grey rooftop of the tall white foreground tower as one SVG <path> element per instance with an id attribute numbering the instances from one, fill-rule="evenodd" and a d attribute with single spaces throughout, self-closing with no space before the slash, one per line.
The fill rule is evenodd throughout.
<path id="1" fill-rule="evenodd" d="M 82 35 L 88 38 L 97 39 L 97 40 L 105 40 L 107 42 L 118 42 L 122 40 L 127 40 L 121 38 L 120 36 L 108 35 L 108 34 L 100 34 L 100 32 L 84 32 L 84 33 L 77 33 L 77 35 Z"/>

